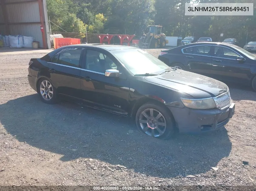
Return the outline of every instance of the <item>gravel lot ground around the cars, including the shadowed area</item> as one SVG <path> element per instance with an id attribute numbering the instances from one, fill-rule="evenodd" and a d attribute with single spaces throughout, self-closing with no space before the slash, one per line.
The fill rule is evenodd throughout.
<path id="1" fill-rule="evenodd" d="M 147 51 L 158 56 L 160 49 Z M 44 55 L 0 55 L 0 186 L 256 188 L 251 88 L 228 84 L 236 110 L 225 128 L 162 141 L 138 132 L 129 118 L 68 102 L 42 103 L 28 84 L 27 68 L 30 58 Z"/>

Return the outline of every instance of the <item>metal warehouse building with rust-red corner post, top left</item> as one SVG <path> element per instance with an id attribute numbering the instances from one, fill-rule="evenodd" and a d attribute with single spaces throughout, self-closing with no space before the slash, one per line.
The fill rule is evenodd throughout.
<path id="1" fill-rule="evenodd" d="M 0 34 L 34 37 L 51 49 L 48 25 L 46 0 L 0 0 Z"/>

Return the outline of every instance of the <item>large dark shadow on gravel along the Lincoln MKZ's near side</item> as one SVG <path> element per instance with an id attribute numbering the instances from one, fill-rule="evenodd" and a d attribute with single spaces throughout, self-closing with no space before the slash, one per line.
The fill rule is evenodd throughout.
<path id="1" fill-rule="evenodd" d="M 72 103 L 48 105 L 37 94 L 0 105 L 0 113 L 18 141 L 62 154 L 62 161 L 95 158 L 155 177 L 204 173 L 231 151 L 225 128 L 162 141 L 138 132 L 128 117 Z"/>

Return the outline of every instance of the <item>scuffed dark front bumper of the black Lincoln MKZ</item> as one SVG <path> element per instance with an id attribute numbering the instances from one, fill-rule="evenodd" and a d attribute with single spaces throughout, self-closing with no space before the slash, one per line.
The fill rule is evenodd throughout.
<path id="1" fill-rule="evenodd" d="M 219 110 L 196 110 L 190 108 L 169 107 L 179 132 L 209 132 L 222 128 L 234 115 L 235 104 Z"/>

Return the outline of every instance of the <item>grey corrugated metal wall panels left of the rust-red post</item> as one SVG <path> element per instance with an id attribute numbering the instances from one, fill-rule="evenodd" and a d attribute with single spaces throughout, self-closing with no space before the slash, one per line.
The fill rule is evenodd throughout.
<path id="1" fill-rule="evenodd" d="M 23 35 L 35 37 L 39 42 L 39 47 L 43 47 L 42 32 L 40 30 L 39 5 L 37 1 L 24 2 L 18 4 L 8 4 L 13 2 L 23 2 L 28 0 L 5 0 L 8 23 L 11 35 Z M 1 8 L 1 7 L 0 7 Z M 37 22 L 37 23 L 32 23 Z M 0 9 L 0 23 L 4 23 L 2 10 Z M 12 24 L 13 23 L 13 24 Z M 22 24 L 18 24 L 22 23 Z M 5 33 L 3 24 L 0 24 L 0 33 Z"/>

